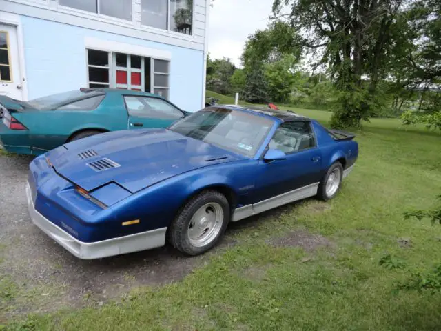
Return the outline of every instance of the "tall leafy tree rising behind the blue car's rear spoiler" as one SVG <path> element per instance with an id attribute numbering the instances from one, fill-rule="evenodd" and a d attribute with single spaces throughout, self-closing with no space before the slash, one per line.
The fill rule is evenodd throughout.
<path id="1" fill-rule="evenodd" d="M 435 1 L 435 0 L 433 0 Z M 396 46 L 391 31 L 405 0 L 275 0 L 274 14 L 287 17 L 302 35 L 302 46 L 321 50 L 316 64 L 326 64 L 340 90 L 340 108 L 331 125 L 360 126 L 374 106 Z M 282 13 L 284 5 L 290 13 Z M 399 34 L 400 35 L 400 34 Z"/>

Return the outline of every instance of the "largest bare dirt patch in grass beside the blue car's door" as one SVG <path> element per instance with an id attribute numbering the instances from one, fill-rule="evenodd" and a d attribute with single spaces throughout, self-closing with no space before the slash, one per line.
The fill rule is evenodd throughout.
<path id="1" fill-rule="evenodd" d="M 307 252 L 312 252 L 316 248 L 331 246 L 331 241 L 327 238 L 320 234 L 312 234 L 307 230 L 289 232 L 285 237 L 271 239 L 269 243 L 279 247 L 301 247 Z"/>

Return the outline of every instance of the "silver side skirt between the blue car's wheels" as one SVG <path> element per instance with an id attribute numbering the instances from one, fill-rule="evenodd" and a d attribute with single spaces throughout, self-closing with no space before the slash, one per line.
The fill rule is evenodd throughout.
<path id="1" fill-rule="evenodd" d="M 317 194 L 318 184 L 319 183 L 307 185 L 302 188 L 280 194 L 276 197 L 254 203 L 253 205 L 244 205 L 243 207 L 236 208 L 236 210 L 234 210 L 232 221 L 240 221 L 241 219 L 246 219 L 254 214 L 265 212 L 266 210 L 279 207 L 280 205 L 314 197 Z"/>

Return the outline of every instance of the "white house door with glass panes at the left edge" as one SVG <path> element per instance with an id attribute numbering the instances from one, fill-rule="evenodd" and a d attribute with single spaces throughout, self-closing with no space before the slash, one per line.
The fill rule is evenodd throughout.
<path id="1" fill-rule="evenodd" d="M 17 28 L 0 23 L 0 95 L 23 99 Z"/>

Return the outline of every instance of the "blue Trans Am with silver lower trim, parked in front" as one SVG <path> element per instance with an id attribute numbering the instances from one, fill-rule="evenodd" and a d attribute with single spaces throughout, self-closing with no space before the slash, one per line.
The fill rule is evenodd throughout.
<path id="1" fill-rule="evenodd" d="M 353 135 L 294 113 L 213 106 L 168 129 L 65 144 L 30 164 L 32 221 L 81 259 L 171 243 L 196 255 L 229 221 L 336 196 L 358 157 Z"/>

